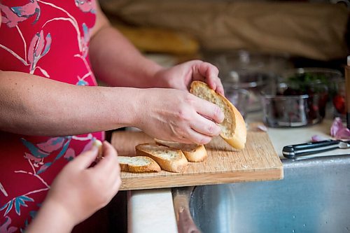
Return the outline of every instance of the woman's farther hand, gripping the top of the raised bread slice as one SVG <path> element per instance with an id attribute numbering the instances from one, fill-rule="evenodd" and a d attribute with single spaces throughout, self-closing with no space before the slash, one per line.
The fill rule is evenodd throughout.
<path id="1" fill-rule="evenodd" d="M 155 73 L 155 80 L 167 83 L 165 86 L 179 90 L 188 90 L 194 80 L 207 83 L 211 89 L 224 94 L 223 84 L 218 78 L 218 68 L 200 60 L 185 62 Z"/>

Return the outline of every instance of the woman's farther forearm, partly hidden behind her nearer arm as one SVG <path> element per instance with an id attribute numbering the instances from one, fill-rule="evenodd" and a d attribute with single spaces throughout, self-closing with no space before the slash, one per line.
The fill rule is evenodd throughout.
<path id="1" fill-rule="evenodd" d="M 154 76 L 162 66 L 146 59 L 113 27 L 102 27 L 90 41 L 90 61 L 99 80 L 113 86 L 166 87 Z"/>

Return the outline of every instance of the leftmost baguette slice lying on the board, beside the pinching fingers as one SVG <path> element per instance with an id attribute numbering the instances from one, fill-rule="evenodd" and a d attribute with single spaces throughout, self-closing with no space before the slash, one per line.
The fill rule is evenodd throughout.
<path id="1" fill-rule="evenodd" d="M 129 172 L 159 172 L 157 162 L 146 156 L 118 156 L 121 171 Z"/>

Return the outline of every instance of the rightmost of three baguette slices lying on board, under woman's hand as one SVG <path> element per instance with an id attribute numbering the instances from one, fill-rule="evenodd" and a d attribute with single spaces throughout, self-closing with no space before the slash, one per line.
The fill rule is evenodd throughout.
<path id="1" fill-rule="evenodd" d="M 158 145 L 181 150 L 189 162 L 201 162 L 205 160 L 205 158 L 208 156 L 207 150 L 204 148 L 204 145 L 199 145 L 195 143 L 178 143 L 175 141 L 164 141 L 160 139 L 154 140 L 155 143 L 157 143 Z"/>

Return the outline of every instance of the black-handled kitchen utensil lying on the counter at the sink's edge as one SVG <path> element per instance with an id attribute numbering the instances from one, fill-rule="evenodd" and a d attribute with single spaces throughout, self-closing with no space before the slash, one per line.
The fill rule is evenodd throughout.
<path id="1" fill-rule="evenodd" d="M 282 154 L 284 157 L 294 159 L 303 155 L 311 155 L 335 149 L 350 148 L 350 141 L 325 140 L 295 144 L 283 147 Z"/>

